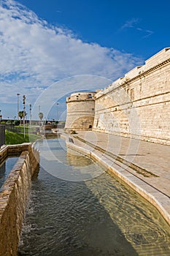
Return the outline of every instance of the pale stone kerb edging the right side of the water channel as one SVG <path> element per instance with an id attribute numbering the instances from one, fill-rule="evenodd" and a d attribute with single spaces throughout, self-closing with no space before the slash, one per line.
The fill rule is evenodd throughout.
<path id="1" fill-rule="evenodd" d="M 69 148 L 73 148 L 75 151 L 85 154 L 87 157 L 90 157 L 99 162 L 104 167 L 107 167 L 109 172 L 115 174 L 115 176 L 120 178 L 120 180 L 124 181 L 125 184 L 128 184 L 129 187 L 134 189 L 134 191 L 136 191 L 139 195 L 151 203 L 152 206 L 155 206 L 162 217 L 170 225 L 170 213 L 169 209 L 166 209 L 166 207 L 168 208 L 170 205 L 169 197 L 163 195 L 157 189 L 151 187 L 150 184 L 147 184 L 145 181 L 134 176 L 132 173 L 128 173 L 128 171 L 125 169 L 121 168 L 120 170 L 117 170 L 116 164 L 114 161 L 112 161 L 111 158 L 108 159 L 104 157 L 103 154 L 98 151 L 94 151 L 93 148 L 89 147 L 87 149 L 83 148 L 82 146 L 77 146 L 75 143 L 69 141 L 68 135 L 61 135 L 61 138 L 66 140 L 66 145 L 69 146 Z"/>

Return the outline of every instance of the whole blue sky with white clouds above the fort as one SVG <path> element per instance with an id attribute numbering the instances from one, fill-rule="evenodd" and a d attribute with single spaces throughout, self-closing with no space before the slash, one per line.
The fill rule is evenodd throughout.
<path id="1" fill-rule="evenodd" d="M 41 95 L 45 91 L 49 94 L 51 85 L 64 80 L 65 87 L 63 82 L 53 86 L 53 100 L 47 97 L 51 104 L 48 109 L 62 97 L 62 115 L 64 95 L 77 87 L 96 90 L 107 86 L 170 46 L 170 1 L 0 2 L 0 110 L 4 118 L 17 116 L 17 93 L 20 108 L 26 94 L 27 112 L 32 104 L 35 118 L 37 104 L 47 112 L 47 102 L 44 96 L 41 101 Z M 80 79 L 74 79 L 75 76 Z M 55 110 L 45 116 L 56 118 Z"/>

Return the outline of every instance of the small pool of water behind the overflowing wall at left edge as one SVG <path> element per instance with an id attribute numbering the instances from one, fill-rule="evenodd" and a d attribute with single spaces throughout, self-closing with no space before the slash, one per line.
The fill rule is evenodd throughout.
<path id="1" fill-rule="evenodd" d="M 4 181 L 6 181 L 7 177 L 9 176 L 9 173 L 12 170 L 12 167 L 17 162 L 18 157 L 8 157 L 4 160 L 4 162 L 1 162 L 0 164 L 0 188 L 4 184 Z"/>

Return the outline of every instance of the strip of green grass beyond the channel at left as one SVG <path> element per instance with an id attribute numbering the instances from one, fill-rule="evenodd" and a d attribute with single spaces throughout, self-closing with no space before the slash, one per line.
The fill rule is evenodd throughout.
<path id="1" fill-rule="evenodd" d="M 25 142 L 34 142 L 35 140 L 42 138 L 42 136 L 26 133 L 25 138 L 23 137 L 23 133 L 16 133 L 16 132 L 8 132 L 5 130 L 5 144 L 6 145 L 14 145 L 14 144 L 22 144 Z"/>

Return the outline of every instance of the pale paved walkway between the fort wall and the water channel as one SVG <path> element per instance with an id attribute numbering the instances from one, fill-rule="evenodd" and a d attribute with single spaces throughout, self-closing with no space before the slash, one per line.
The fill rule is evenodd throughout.
<path id="1" fill-rule="evenodd" d="M 170 225 L 170 146 L 78 131 L 71 143 L 85 148 L 161 212 Z"/>

